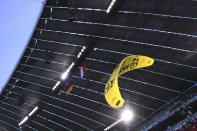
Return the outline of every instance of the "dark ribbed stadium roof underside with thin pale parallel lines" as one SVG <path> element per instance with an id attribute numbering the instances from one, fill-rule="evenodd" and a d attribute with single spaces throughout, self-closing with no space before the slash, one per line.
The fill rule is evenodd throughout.
<path id="1" fill-rule="evenodd" d="M 120 92 L 135 118 L 115 127 L 122 131 L 154 114 L 197 81 L 197 2 L 189 0 L 124 0 L 112 16 L 106 0 L 48 0 L 35 32 L 0 104 L 0 129 L 19 130 L 18 123 L 35 106 L 42 110 L 24 130 L 102 130 L 117 121 L 121 109 L 104 98 L 105 84 L 129 55 L 153 58 L 153 66 L 119 78 Z M 20 43 L 16 43 L 20 44 Z M 51 88 L 83 46 L 91 49 L 69 76 L 73 90 Z M 50 60 L 52 62 L 50 63 Z M 77 68 L 78 69 L 78 68 Z M 19 96 L 25 103 L 17 105 Z"/>

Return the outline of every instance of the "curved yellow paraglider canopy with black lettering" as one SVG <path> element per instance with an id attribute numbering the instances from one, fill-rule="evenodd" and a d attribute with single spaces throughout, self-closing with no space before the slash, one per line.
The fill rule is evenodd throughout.
<path id="1" fill-rule="evenodd" d="M 147 56 L 133 55 L 125 57 L 113 71 L 105 85 L 104 95 L 107 103 L 114 108 L 122 107 L 125 100 L 122 98 L 119 91 L 118 77 L 130 70 L 151 66 L 153 63 L 154 60 Z"/>

